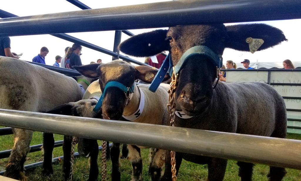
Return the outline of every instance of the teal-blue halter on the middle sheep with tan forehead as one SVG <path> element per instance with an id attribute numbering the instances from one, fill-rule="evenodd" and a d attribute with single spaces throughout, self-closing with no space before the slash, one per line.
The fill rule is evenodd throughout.
<path id="1" fill-rule="evenodd" d="M 110 81 L 106 84 L 106 86 L 104 87 L 104 92 L 101 94 L 101 97 L 99 98 L 99 101 L 98 103 L 96 104 L 96 106 L 94 107 L 93 111 L 95 113 L 98 113 L 98 111 L 100 110 L 101 106 L 102 106 L 102 102 L 104 100 L 104 96 L 106 95 L 106 91 L 108 88 L 110 87 L 117 87 L 119 88 L 120 90 L 122 90 L 126 96 L 127 94 L 132 94 L 134 93 L 134 87 L 135 86 L 135 82 L 134 84 L 132 85 L 132 87 L 126 87 L 125 85 L 121 84 L 120 82 L 117 82 L 117 81 Z"/>

